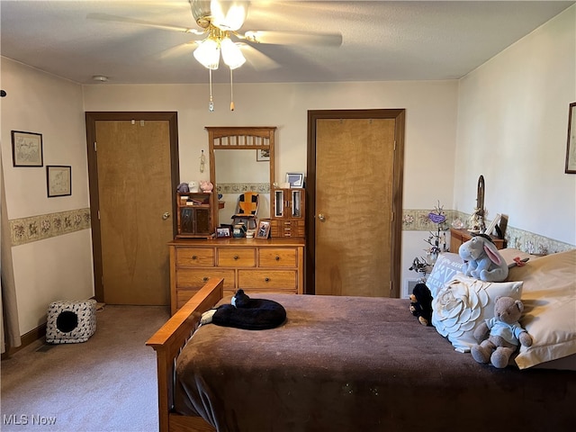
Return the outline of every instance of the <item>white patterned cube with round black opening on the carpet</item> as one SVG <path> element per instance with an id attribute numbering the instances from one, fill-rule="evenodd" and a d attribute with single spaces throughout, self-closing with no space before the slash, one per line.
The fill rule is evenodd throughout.
<path id="1" fill-rule="evenodd" d="M 48 309 L 46 342 L 77 344 L 96 331 L 96 301 L 52 302 Z"/>

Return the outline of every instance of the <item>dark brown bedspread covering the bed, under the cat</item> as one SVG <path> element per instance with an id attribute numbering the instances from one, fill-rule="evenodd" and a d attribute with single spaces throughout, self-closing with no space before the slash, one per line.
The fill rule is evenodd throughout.
<path id="1" fill-rule="evenodd" d="M 576 373 L 479 365 L 420 325 L 407 300 L 266 298 L 284 305 L 283 326 L 209 324 L 184 347 L 177 412 L 242 432 L 526 432 L 576 424 Z"/>

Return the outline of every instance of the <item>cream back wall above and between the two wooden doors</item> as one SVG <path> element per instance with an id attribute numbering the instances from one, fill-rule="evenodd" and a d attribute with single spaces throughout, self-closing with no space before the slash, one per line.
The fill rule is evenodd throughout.
<path id="1" fill-rule="evenodd" d="M 457 81 L 214 85 L 216 111 L 208 111 L 206 85 L 85 85 L 85 111 L 177 111 L 182 181 L 199 172 L 207 152 L 205 126 L 276 126 L 276 181 L 306 171 L 308 110 L 406 109 L 404 206 L 452 202 Z M 434 176 L 434 185 L 429 181 Z"/>

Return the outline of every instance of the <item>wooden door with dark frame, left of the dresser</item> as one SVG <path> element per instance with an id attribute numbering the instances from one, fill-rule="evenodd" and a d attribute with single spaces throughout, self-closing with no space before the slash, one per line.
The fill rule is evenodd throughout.
<path id="1" fill-rule="evenodd" d="M 86 114 L 96 143 L 90 170 L 96 298 L 167 305 L 166 244 L 175 234 L 175 118 L 133 114 L 134 120 L 100 121 Z"/>

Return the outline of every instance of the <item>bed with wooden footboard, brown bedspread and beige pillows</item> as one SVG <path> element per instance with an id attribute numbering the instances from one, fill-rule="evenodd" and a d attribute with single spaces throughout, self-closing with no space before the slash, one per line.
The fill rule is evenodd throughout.
<path id="1" fill-rule="evenodd" d="M 484 288 L 493 301 L 523 285 L 535 344 L 505 369 L 476 363 L 462 348 L 469 335 L 420 325 L 406 299 L 270 294 L 288 316 L 276 329 L 198 328 L 229 302 L 212 279 L 147 342 L 160 430 L 572 430 L 576 250 L 528 263 Z M 461 277 L 441 267 L 438 290 Z"/>

